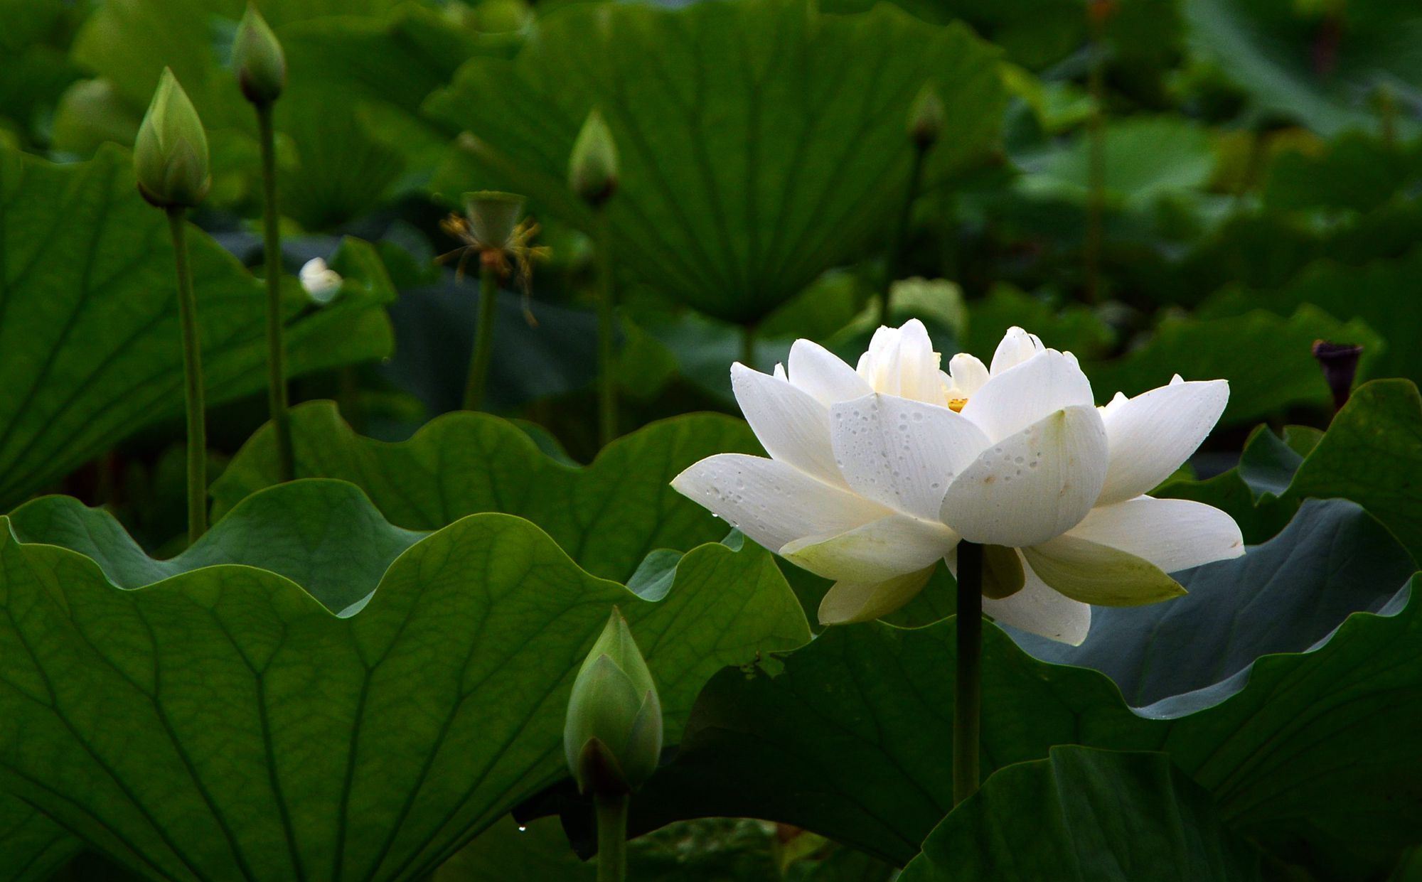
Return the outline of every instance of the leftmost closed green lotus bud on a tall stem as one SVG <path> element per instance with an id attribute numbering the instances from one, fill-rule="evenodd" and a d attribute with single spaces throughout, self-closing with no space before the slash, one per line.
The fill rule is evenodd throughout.
<path id="1" fill-rule="evenodd" d="M 169 68 L 134 141 L 138 192 L 159 208 L 193 208 L 208 195 L 208 134 Z"/>

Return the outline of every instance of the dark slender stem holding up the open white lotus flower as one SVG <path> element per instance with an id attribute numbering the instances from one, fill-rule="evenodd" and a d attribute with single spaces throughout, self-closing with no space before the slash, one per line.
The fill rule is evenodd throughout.
<path id="1" fill-rule="evenodd" d="M 978 787 L 983 706 L 983 546 L 958 542 L 958 662 L 953 690 L 953 804 Z"/>

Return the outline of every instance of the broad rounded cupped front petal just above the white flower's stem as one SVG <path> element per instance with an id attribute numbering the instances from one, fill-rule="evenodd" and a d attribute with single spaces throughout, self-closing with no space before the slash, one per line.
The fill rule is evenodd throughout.
<path id="1" fill-rule="evenodd" d="M 1086 516 L 1106 477 L 1095 407 L 1066 407 L 984 450 L 943 498 L 940 519 L 964 539 L 1024 548 Z"/>

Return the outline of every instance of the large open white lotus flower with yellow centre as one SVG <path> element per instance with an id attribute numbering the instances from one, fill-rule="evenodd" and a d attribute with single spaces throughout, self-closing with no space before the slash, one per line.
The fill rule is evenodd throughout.
<path id="1" fill-rule="evenodd" d="M 720 454 L 673 481 L 747 536 L 835 579 L 826 625 L 907 603 L 960 539 L 984 546 L 984 612 L 1081 643 L 1092 603 L 1152 603 L 1167 573 L 1244 553 L 1239 525 L 1145 495 L 1224 411 L 1224 380 L 1096 407 L 1071 353 L 1007 331 L 991 367 L 939 370 L 923 323 L 880 327 L 857 370 L 809 340 L 774 376 L 731 367 L 737 401 L 771 458 Z"/>

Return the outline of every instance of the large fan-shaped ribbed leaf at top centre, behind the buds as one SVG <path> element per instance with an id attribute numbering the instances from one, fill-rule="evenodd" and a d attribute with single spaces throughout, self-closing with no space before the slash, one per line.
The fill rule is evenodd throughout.
<path id="1" fill-rule="evenodd" d="M 931 175 L 997 139 L 995 57 L 961 24 L 887 6 L 576 4 L 542 18 L 513 61 L 475 58 L 429 100 L 469 135 L 438 182 L 451 196 L 522 192 L 589 229 L 567 158 L 596 105 L 620 156 L 607 205 L 619 265 L 702 312 L 755 322 L 892 223 L 924 83 L 950 125 Z"/>

